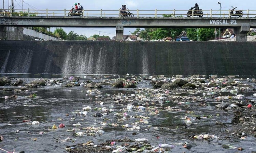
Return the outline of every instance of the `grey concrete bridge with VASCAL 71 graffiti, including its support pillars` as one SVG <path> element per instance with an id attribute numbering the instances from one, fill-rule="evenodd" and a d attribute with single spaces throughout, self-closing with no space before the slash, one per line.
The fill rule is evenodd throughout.
<path id="1" fill-rule="evenodd" d="M 255 17 L 67 17 L 0 16 L 1 27 L 114 27 L 116 40 L 123 39 L 124 28 L 233 28 L 236 41 L 246 41 Z"/>

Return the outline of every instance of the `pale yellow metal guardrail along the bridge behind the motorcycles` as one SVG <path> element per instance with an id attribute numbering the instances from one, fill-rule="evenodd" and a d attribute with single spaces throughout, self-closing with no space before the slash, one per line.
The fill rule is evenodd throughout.
<path id="1" fill-rule="evenodd" d="M 70 9 L 64 10 L 13 10 L 14 13 L 8 12 L 10 10 L 0 10 L 0 16 L 28 16 L 31 15 L 35 16 L 64 16 L 67 17 L 69 13 L 71 13 Z M 39 11 L 41 13 L 39 13 Z M 178 17 L 186 17 L 188 10 L 129 10 L 131 14 L 134 15 L 135 18 L 139 17 L 163 17 L 163 15 L 172 15 L 173 18 Z M 230 17 L 230 10 L 202 10 L 203 17 Z M 242 10 L 243 17 L 255 17 L 256 18 L 256 11 L 255 10 Z M 71 13 L 72 15 L 76 15 Z M 191 18 L 194 18 L 194 11 L 191 11 Z M 122 13 L 119 10 L 83 10 L 81 18 L 85 17 L 121 17 Z"/>

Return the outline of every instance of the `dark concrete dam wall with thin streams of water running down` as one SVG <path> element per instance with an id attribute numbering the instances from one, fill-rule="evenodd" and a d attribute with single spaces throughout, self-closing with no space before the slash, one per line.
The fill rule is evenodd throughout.
<path id="1" fill-rule="evenodd" d="M 0 40 L 0 73 L 255 75 L 256 42 Z"/>

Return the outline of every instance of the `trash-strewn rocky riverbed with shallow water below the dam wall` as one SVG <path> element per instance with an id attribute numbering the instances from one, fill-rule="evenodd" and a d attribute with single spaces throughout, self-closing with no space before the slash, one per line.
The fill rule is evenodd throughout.
<path id="1" fill-rule="evenodd" d="M 215 75 L 3 77 L 0 148 L 254 152 L 255 83 Z"/>

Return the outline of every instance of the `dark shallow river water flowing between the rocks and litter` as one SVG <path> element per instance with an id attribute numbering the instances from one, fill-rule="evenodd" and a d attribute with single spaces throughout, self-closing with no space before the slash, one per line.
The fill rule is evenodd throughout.
<path id="1" fill-rule="evenodd" d="M 29 83 L 37 78 L 22 79 L 25 83 Z M 88 80 L 100 81 L 104 79 L 80 79 L 81 82 Z M 256 151 L 255 138 L 253 136 L 248 136 L 245 139 L 223 139 L 223 131 L 229 129 L 232 124 L 237 122 L 237 120 L 233 119 L 234 113 L 233 111 L 217 109 L 215 105 L 219 102 L 205 98 L 202 92 L 195 94 L 173 92 L 172 95 L 190 97 L 190 99 L 187 99 L 188 105 L 184 106 L 177 104 L 177 101 L 159 100 L 157 96 L 152 94 L 153 92 L 151 94 L 147 92 L 146 94 L 146 90 L 153 90 L 150 81 L 147 80 L 140 82 L 138 88 L 135 89 L 113 88 L 105 85 L 103 88 L 98 89 L 101 94 L 96 94 L 102 95 L 101 98 L 88 94 L 88 89 L 81 86 L 65 88 L 61 87 L 61 84 L 55 84 L 53 86 L 47 85 L 32 88 L 26 92 L 18 93 L 3 91 L 3 88 L 13 90 L 20 87 L 0 86 L 0 135 L 4 137 L 4 140 L 0 142 L 0 148 L 10 152 L 15 149 L 16 152 L 25 151 L 26 153 L 61 153 L 67 152 L 65 150 L 66 146 L 85 143 L 89 140 L 97 144 L 105 140 L 124 139 L 125 137 L 129 137 L 131 140 L 147 138 L 152 146 L 158 146 L 160 143 L 174 145 L 175 147 L 172 149 L 172 152 Z M 132 99 L 131 94 L 139 94 L 140 91 L 144 91 L 141 95 L 146 95 L 147 98 L 144 100 Z M 12 96 L 14 94 L 18 97 L 5 99 L 5 96 Z M 30 98 L 29 95 L 31 94 L 35 94 L 36 97 Z M 238 94 L 243 94 L 245 96 L 244 100 L 255 100 L 252 96 L 254 91 Z M 230 95 L 230 93 L 226 95 Z M 208 102 L 209 106 L 199 107 L 198 103 L 191 100 L 193 98 L 205 98 L 205 102 Z M 101 102 L 104 102 L 104 105 L 101 105 Z M 151 109 L 151 111 L 139 109 L 126 110 L 124 108 L 127 107 L 127 104 L 155 108 L 158 110 L 158 113 L 152 113 L 155 109 Z M 81 111 L 86 106 L 92 108 L 86 117 L 74 113 L 78 110 Z M 168 106 L 173 108 L 173 111 L 165 109 Z M 94 117 L 95 113 L 100 112 L 99 108 L 103 107 L 111 109 L 111 113 L 103 117 Z M 148 122 L 138 123 L 141 128 L 140 131 L 127 131 L 123 125 L 133 124 L 139 121 L 140 118 L 120 120 L 123 116 L 118 116 L 116 113 L 122 114 L 124 112 L 133 117 L 139 115 L 149 117 L 145 120 Z M 66 114 L 69 114 L 69 116 Z M 212 117 L 205 117 L 211 115 Z M 184 121 L 185 116 L 190 117 L 192 121 L 190 126 L 186 125 Z M 201 119 L 196 119 L 196 116 L 200 116 Z M 30 125 L 29 123 L 31 122 L 24 122 L 25 120 L 39 121 L 40 123 Z M 226 125 L 216 125 L 216 121 L 224 122 Z M 77 122 L 80 122 L 81 126 L 73 125 Z M 106 122 L 106 125 L 104 125 L 104 122 Z M 65 127 L 49 130 L 54 124 L 58 126 L 60 123 L 65 124 Z M 116 124 L 116 126 L 113 126 L 113 124 Z M 97 133 L 94 136 L 76 136 L 74 132 L 67 132 L 67 130 L 73 128 L 77 129 L 75 132 L 83 132 L 82 128 L 88 127 L 102 127 L 105 133 Z M 79 131 L 79 129 L 82 130 Z M 209 134 L 222 138 L 209 141 L 193 140 L 189 138 L 193 134 Z M 64 139 L 67 137 L 71 140 L 65 141 Z M 182 145 L 184 142 L 189 143 L 192 146 L 191 149 L 184 148 Z M 224 149 L 222 147 L 223 144 L 237 148 L 242 147 L 244 150 L 238 151 L 237 148 L 232 149 L 232 147 Z"/>

